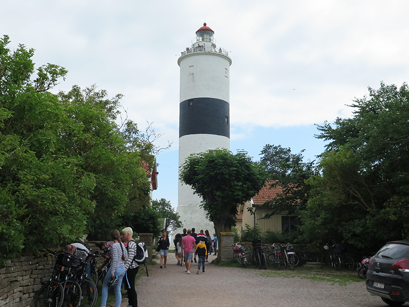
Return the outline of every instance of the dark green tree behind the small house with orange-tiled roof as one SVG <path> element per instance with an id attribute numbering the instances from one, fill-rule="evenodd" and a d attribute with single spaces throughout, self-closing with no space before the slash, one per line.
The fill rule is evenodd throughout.
<path id="1" fill-rule="evenodd" d="M 283 191 L 277 198 L 264 203 L 271 211 L 263 218 L 283 212 L 298 214 L 305 209 L 311 189 L 306 180 L 315 173 L 315 166 L 314 161 L 303 161 L 303 151 L 295 154 L 290 148 L 270 144 L 261 150 L 260 163 L 267 172 L 268 180 L 275 181 L 271 188 L 281 186 Z"/>

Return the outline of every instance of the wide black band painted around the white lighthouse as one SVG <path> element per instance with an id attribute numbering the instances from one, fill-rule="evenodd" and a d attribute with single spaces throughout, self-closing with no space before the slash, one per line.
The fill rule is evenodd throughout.
<path id="1" fill-rule="evenodd" d="M 179 138 L 193 134 L 230 138 L 229 103 L 216 98 L 192 98 L 180 102 Z"/>

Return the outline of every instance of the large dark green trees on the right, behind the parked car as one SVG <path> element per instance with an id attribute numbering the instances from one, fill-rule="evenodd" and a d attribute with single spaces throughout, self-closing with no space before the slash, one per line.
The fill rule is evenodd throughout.
<path id="1" fill-rule="evenodd" d="M 409 235 L 409 89 L 381 83 L 351 105 L 353 117 L 319 126 L 330 141 L 303 229 L 321 242 L 376 249 Z"/>

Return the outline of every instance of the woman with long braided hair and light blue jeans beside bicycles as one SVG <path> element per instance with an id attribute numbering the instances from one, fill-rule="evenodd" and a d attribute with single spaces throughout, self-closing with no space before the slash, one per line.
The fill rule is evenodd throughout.
<path id="1" fill-rule="evenodd" d="M 110 278 L 118 277 L 118 284 L 113 288 L 113 292 L 115 292 L 115 307 L 121 307 L 122 301 L 121 285 L 122 279 L 125 275 L 125 260 L 128 254 L 126 252 L 125 245 L 121 242 L 121 237 L 118 229 L 114 229 L 111 231 L 111 238 L 113 241 L 111 251 L 111 266 L 108 272 L 106 272 L 106 276 L 102 286 L 101 307 L 106 306 L 106 300 L 108 298 L 108 281 Z"/>

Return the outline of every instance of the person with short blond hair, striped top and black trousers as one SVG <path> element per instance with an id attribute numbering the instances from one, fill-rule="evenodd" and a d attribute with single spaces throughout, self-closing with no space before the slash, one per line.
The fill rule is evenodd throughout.
<path id="1" fill-rule="evenodd" d="M 125 277 L 124 284 L 126 292 L 128 293 L 128 307 L 138 307 L 138 294 L 135 290 L 135 277 L 139 271 L 139 265 L 134 261 L 134 257 L 137 254 L 137 243 L 132 238 L 133 230 L 130 227 L 122 229 L 122 236 L 128 242 L 126 245 L 126 251 L 128 257 L 125 261 Z"/>

